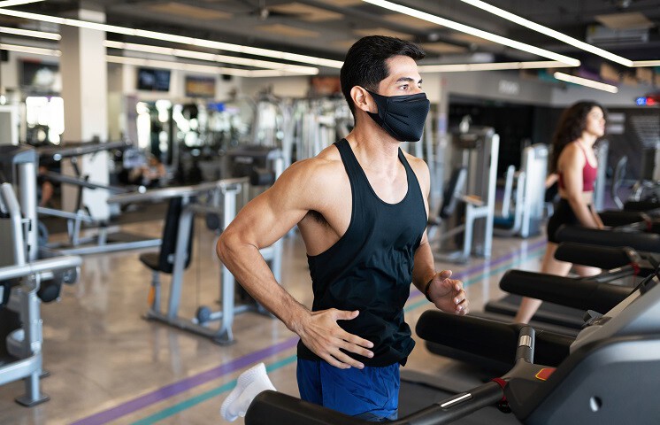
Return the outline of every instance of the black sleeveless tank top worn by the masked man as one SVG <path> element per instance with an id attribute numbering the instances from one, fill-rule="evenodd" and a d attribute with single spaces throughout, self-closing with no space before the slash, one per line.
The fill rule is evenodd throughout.
<path id="1" fill-rule="evenodd" d="M 417 176 L 399 150 L 408 191 L 397 204 L 384 202 L 342 139 L 334 143 L 349 175 L 353 206 L 349 228 L 327 251 L 308 256 L 314 303 L 312 311 L 359 310 L 351 321 L 338 321 L 350 334 L 373 343 L 373 358 L 348 353 L 366 366 L 405 364 L 415 342 L 403 321 L 410 296 L 412 266 L 426 229 L 426 209 Z M 304 344 L 298 357 L 318 359 Z"/>

